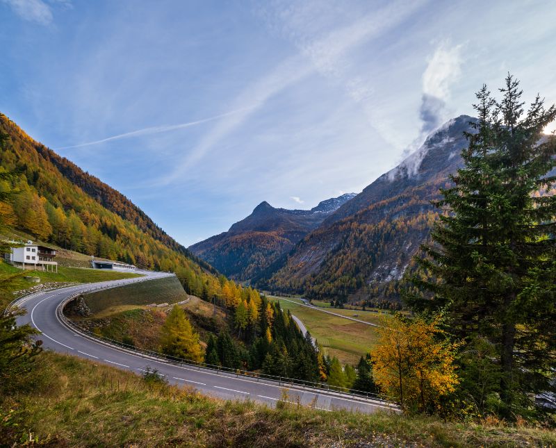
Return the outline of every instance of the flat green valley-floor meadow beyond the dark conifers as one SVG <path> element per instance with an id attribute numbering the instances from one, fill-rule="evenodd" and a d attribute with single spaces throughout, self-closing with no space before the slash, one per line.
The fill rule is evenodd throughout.
<path id="1" fill-rule="evenodd" d="M 336 356 L 344 364 L 357 364 L 359 358 L 364 356 L 375 342 L 376 331 L 370 325 L 301 306 L 300 299 L 288 297 L 288 300 L 294 300 L 298 303 L 292 303 L 274 296 L 269 297 L 269 299 L 279 301 L 284 310 L 290 310 L 295 317 L 298 317 L 304 323 L 313 338 L 317 339 L 325 354 Z M 375 322 L 373 320 L 378 318 L 377 313 L 367 312 L 368 315 L 363 316 L 363 312 L 360 311 L 334 309 L 334 313 L 336 311 L 341 311 L 350 316 L 359 314 L 356 319 L 368 322 Z"/>

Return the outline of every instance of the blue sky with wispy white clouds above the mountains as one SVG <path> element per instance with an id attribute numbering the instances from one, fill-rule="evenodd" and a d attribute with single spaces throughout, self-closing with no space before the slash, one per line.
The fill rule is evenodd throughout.
<path id="1" fill-rule="evenodd" d="M 551 1 L 0 0 L 0 112 L 186 246 L 360 192 L 508 72 L 556 102 Z"/>

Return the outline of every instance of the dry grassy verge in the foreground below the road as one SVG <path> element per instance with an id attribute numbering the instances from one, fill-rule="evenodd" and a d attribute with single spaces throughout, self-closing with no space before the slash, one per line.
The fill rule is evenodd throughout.
<path id="1" fill-rule="evenodd" d="M 0 440 L 49 447 L 553 447 L 556 433 L 436 417 L 222 401 L 51 352 L 33 386 L 0 396 Z M 28 442 L 29 439 L 35 442 Z"/>

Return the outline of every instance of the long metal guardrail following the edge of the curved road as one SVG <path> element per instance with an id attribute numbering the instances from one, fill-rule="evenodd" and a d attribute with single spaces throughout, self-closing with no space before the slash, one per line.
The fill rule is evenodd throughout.
<path id="1" fill-rule="evenodd" d="M 164 277 L 165 276 L 160 276 L 158 278 L 164 278 Z M 233 368 L 230 368 L 230 367 L 223 367 L 223 366 L 220 366 L 220 365 L 211 365 L 211 364 L 206 364 L 206 363 L 200 363 L 200 362 L 195 361 L 195 360 L 177 358 L 175 356 L 166 355 L 166 354 L 160 353 L 158 351 L 145 350 L 145 349 L 140 349 L 140 348 L 132 346 L 132 345 L 126 345 L 123 342 L 113 340 L 113 339 L 110 339 L 110 338 L 106 338 L 105 336 L 98 335 L 96 333 L 92 333 L 91 331 L 83 329 L 78 324 L 69 320 L 63 313 L 63 309 L 65 308 L 65 306 L 70 301 L 76 299 L 77 297 L 79 297 L 79 296 L 81 296 L 85 293 L 92 293 L 92 292 L 96 292 L 96 291 L 99 291 L 99 290 L 113 289 L 113 288 L 117 288 L 119 286 L 126 286 L 126 285 L 131 285 L 133 283 L 142 283 L 143 281 L 152 281 L 152 280 L 156 280 L 156 279 L 152 279 L 152 278 L 149 278 L 149 277 L 140 277 L 138 279 L 127 279 L 127 280 L 124 280 L 124 281 L 118 281 L 118 283 L 112 283 L 113 281 L 111 281 L 111 283 L 108 284 L 108 285 L 95 285 L 92 288 L 88 288 L 86 290 L 81 290 L 79 292 L 76 292 L 75 294 L 72 294 L 72 295 L 66 297 L 56 307 L 56 314 L 58 315 L 58 318 L 59 318 L 60 322 L 65 324 L 65 326 L 67 326 L 72 331 L 76 331 L 77 333 L 81 333 L 81 335 L 83 335 L 83 337 L 85 337 L 85 338 L 95 340 L 97 342 L 100 342 L 101 344 L 109 345 L 111 347 L 115 347 L 116 349 L 120 349 L 122 351 L 128 351 L 128 352 L 131 352 L 133 354 L 143 356 L 145 358 L 152 358 L 152 359 L 155 359 L 155 360 L 159 360 L 161 362 L 172 363 L 173 365 L 188 365 L 188 366 L 192 366 L 192 367 L 197 367 L 197 370 L 201 370 L 201 369 L 212 370 L 212 371 L 215 371 L 217 374 L 231 374 L 231 375 L 235 375 L 236 377 L 245 376 L 245 377 L 250 378 L 250 379 L 256 379 L 256 381 L 260 381 L 262 379 L 262 380 L 266 380 L 266 381 L 272 381 L 272 382 L 275 382 L 275 383 L 279 383 L 279 385 L 291 385 L 291 386 L 295 386 L 297 388 L 311 388 L 311 389 L 325 390 L 328 393 L 348 396 L 348 397 L 352 397 L 352 399 L 359 399 L 361 401 L 378 401 L 379 404 L 382 404 L 383 406 L 390 407 L 393 410 L 398 409 L 398 404 L 395 403 L 395 401 L 393 401 L 391 399 L 391 397 L 388 397 L 388 396 L 382 395 L 382 394 L 375 394 L 375 393 L 366 392 L 366 391 L 363 391 L 363 390 L 352 390 L 352 389 L 347 389 L 347 388 L 341 388 L 341 387 L 334 386 L 334 385 L 329 385 L 329 384 L 326 384 L 326 383 L 316 383 L 316 382 L 313 382 L 313 381 L 305 381 L 305 380 L 300 380 L 300 379 L 288 378 L 286 376 L 268 375 L 268 374 L 262 374 L 262 373 L 259 373 L 259 372 L 250 372 L 248 370 L 240 370 L 240 369 L 233 369 Z M 83 283 L 81 283 L 81 284 L 83 284 Z M 80 284 L 77 283 L 76 285 L 71 285 L 71 286 L 68 286 L 67 288 L 71 288 L 73 286 L 78 286 L 78 285 L 80 285 Z M 57 289 L 57 288 L 55 288 L 55 289 Z M 65 289 L 65 288 L 59 288 L 59 289 Z M 18 301 L 22 301 L 22 300 L 26 301 L 28 299 L 31 299 L 32 297 L 35 297 L 35 295 L 40 294 L 42 292 L 44 292 L 44 291 L 33 293 L 33 294 L 30 294 L 29 296 L 19 297 L 18 299 L 15 299 L 14 301 L 12 301 L 10 303 L 10 305 L 8 306 L 8 308 L 6 308 L 6 310 L 9 310 L 9 308 L 12 307 L 12 306 L 17 306 Z"/>

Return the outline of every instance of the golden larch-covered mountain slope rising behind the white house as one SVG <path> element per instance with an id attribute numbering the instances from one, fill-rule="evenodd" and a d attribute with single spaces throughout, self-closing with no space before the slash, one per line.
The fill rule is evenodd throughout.
<path id="1" fill-rule="evenodd" d="M 129 199 L 60 158 L 0 114 L 0 169 L 15 172 L 19 193 L 1 205 L 6 224 L 35 238 L 87 255 L 122 260 L 148 269 L 172 270 L 196 289 L 220 288 L 215 270 L 199 265 L 185 247 L 162 231 Z"/>

